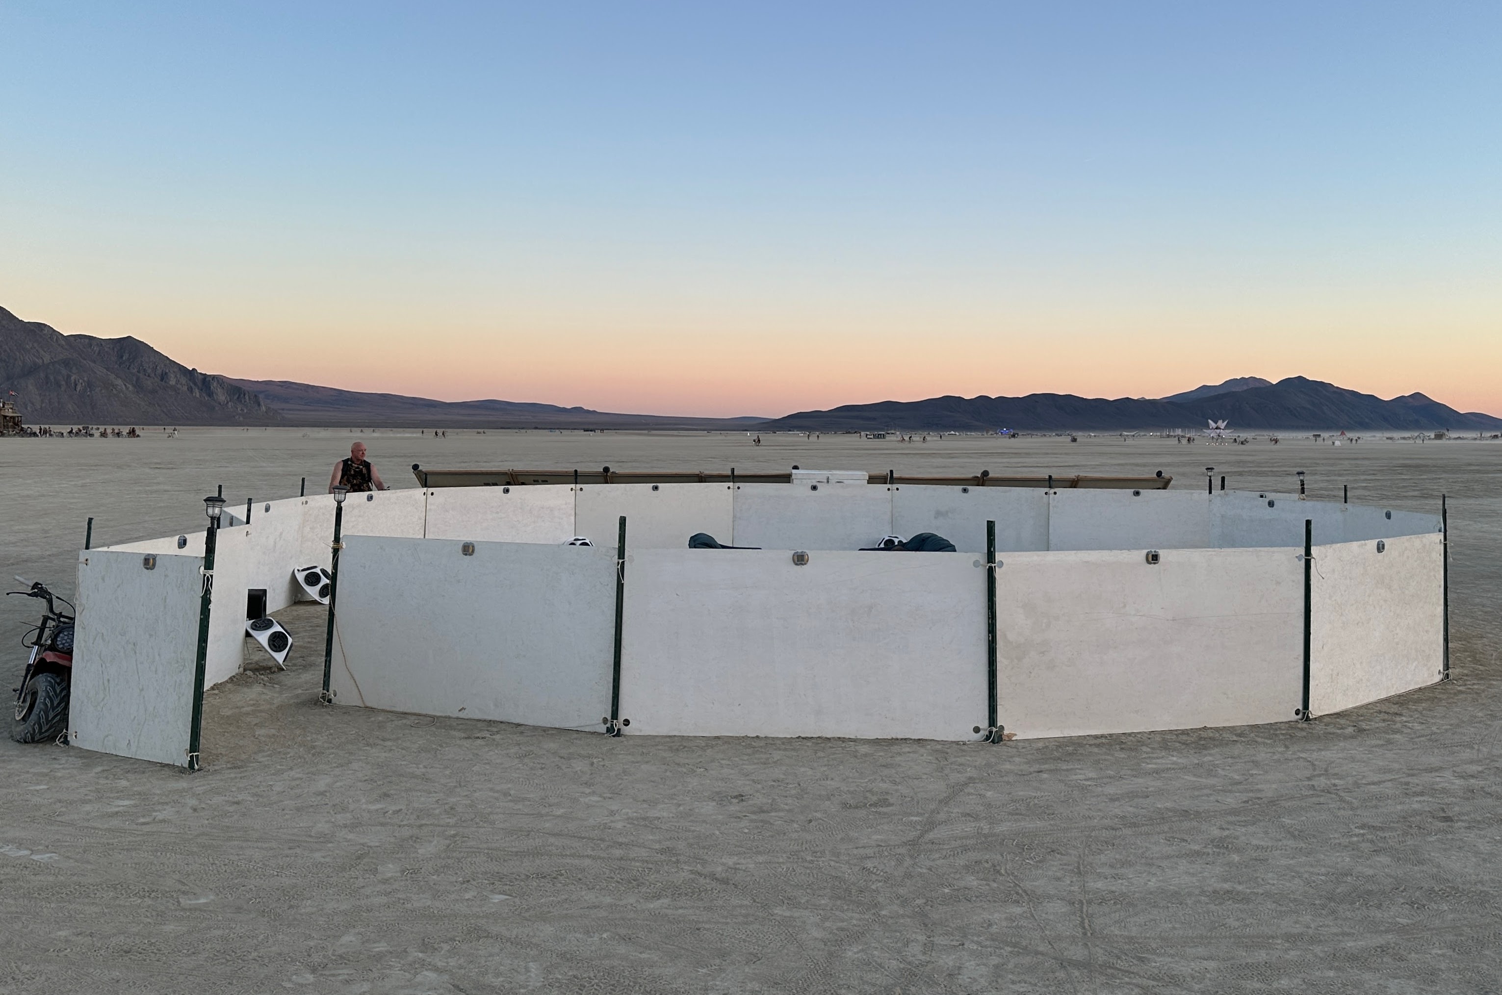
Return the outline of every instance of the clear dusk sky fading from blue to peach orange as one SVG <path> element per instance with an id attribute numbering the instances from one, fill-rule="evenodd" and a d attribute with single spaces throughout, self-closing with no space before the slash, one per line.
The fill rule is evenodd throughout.
<path id="1" fill-rule="evenodd" d="M 234 377 L 1502 414 L 1502 5 L 0 3 L 0 306 Z"/>

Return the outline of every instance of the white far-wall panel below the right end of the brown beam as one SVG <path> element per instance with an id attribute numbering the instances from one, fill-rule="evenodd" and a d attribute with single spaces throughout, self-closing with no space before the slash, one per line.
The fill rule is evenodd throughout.
<path id="1" fill-rule="evenodd" d="M 1202 549 L 1209 545 L 1208 494 L 1060 489 L 1050 498 L 1048 549 Z"/>

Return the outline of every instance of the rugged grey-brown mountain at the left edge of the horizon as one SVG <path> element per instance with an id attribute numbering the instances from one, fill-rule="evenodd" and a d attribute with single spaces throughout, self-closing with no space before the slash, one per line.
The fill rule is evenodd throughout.
<path id="1" fill-rule="evenodd" d="M 0 393 L 27 425 L 281 425 L 254 393 L 134 338 L 63 335 L 0 308 Z"/>

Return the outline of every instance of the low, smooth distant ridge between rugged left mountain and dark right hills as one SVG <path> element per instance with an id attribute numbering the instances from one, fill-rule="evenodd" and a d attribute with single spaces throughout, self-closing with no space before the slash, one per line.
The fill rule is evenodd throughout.
<path id="1" fill-rule="evenodd" d="M 766 419 L 695 419 L 616 414 L 526 401 L 433 401 L 400 393 L 315 387 L 290 380 L 230 380 L 252 390 L 293 425 L 401 425 L 443 428 L 743 429 Z"/>

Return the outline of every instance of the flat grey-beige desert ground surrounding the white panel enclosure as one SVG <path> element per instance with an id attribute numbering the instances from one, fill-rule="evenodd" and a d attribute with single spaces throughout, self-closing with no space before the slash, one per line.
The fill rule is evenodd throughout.
<path id="1" fill-rule="evenodd" d="M 676 738 L 210 690 L 206 770 L 0 743 L 0 990 L 1490 990 L 1502 443 L 159 429 L 0 440 L 8 575 L 430 467 L 1122 473 L 1451 521 L 1452 680 L 1307 725 L 1018 740 Z M 5 603 L 14 645 L 30 605 Z M 14 677 L 18 653 L 0 666 Z M 63 938 L 60 941 L 60 938 Z"/>

